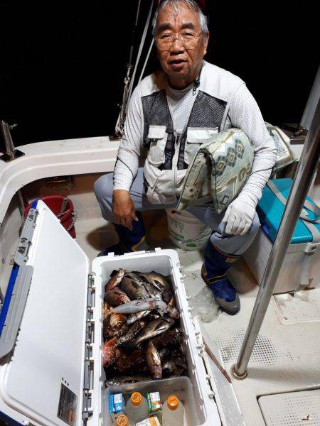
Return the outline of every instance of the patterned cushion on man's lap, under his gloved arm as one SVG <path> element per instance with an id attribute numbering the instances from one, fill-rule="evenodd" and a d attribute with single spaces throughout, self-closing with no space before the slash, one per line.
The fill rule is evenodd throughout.
<path id="1" fill-rule="evenodd" d="M 219 214 L 238 196 L 250 176 L 254 150 L 240 129 L 206 140 L 186 171 L 177 210 L 212 201 Z"/>

